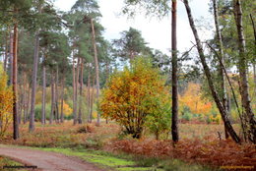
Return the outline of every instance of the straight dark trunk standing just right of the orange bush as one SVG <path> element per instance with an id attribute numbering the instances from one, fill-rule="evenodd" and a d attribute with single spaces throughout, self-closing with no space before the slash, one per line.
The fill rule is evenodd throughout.
<path id="1" fill-rule="evenodd" d="M 171 8 L 171 65 L 172 65 L 172 141 L 178 142 L 178 79 L 177 79 L 177 1 L 172 0 Z"/>

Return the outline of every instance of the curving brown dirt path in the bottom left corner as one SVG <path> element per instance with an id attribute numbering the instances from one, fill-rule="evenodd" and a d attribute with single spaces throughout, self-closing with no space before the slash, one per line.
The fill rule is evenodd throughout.
<path id="1" fill-rule="evenodd" d="M 56 152 L 0 145 L 0 155 L 8 156 L 23 164 L 37 166 L 38 169 L 36 170 L 103 171 L 94 164 L 85 162 L 77 157 L 70 157 Z"/>

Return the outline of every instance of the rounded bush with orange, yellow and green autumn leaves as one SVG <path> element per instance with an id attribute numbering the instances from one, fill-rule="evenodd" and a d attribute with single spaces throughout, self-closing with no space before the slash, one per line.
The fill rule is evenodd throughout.
<path id="1" fill-rule="evenodd" d="M 145 58 L 137 58 L 131 67 L 116 71 L 102 92 L 102 116 L 115 120 L 125 133 L 140 138 L 146 125 L 158 137 L 168 129 L 170 95 L 160 72 Z M 150 122 L 151 124 L 147 124 Z"/>

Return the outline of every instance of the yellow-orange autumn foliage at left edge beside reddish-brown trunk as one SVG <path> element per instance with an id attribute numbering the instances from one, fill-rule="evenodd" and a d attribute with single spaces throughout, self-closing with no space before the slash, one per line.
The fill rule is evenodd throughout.
<path id="1" fill-rule="evenodd" d="M 3 137 L 12 122 L 13 91 L 7 85 L 7 75 L 0 71 L 0 137 Z"/>

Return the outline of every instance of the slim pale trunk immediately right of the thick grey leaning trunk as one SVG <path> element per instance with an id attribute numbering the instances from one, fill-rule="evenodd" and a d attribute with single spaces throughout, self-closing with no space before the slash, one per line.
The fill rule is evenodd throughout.
<path id="1" fill-rule="evenodd" d="M 46 94 L 46 67 L 42 65 L 42 96 L 41 96 L 41 124 L 45 124 L 45 94 Z"/>

